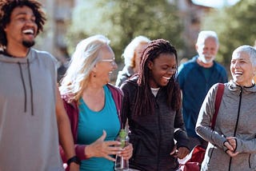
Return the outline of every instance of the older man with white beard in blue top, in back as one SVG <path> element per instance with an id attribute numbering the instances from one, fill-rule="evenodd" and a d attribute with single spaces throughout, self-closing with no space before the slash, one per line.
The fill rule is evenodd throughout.
<path id="1" fill-rule="evenodd" d="M 206 93 L 217 82 L 227 82 L 226 69 L 214 61 L 218 53 L 218 36 L 212 30 L 203 30 L 198 34 L 194 58 L 178 67 L 178 83 L 182 89 L 182 114 L 186 132 L 190 137 L 190 149 L 207 142 L 195 133 L 198 113 Z"/>

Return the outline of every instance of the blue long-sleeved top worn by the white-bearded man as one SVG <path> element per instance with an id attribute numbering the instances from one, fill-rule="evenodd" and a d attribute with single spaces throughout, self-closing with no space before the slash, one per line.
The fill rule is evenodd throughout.
<path id="1" fill-rule="evenodd" d="M 195 133 L 195 124 L 198 113 L 206 93 L 217 82 L 227 82 L 226 69 L 214 62 L 210 67 L 210 78 L 206 78 L 204 67 L 197 63 L 198 56 L 190 59 L 178 67 L 178 83 L 182 89 L 182 114 L 186 125 L 186 132 L 190 137 L 198 137 Z"/>

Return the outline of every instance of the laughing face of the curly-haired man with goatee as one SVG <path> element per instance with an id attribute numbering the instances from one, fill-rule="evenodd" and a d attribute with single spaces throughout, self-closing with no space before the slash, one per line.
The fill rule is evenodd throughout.
<path id="1" fill-rule="evenodd" d="M 4 29 L 7 46 L 34 46 L 38 26 L 35 23 L 33 11 L 28 6 L 14 8 L 10 16 L 10 23 Z"/>

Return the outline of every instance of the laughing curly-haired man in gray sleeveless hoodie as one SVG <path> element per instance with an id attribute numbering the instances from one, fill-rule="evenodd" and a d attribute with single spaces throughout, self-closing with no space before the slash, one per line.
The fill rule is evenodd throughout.
<path id="1" fill-rule="evenodd" d="M 56 61 L 31 48 L 45 21 L 37 1 L 0 2 L 0 170 L 64 170 L 58 142 L 79 168 Z"/>

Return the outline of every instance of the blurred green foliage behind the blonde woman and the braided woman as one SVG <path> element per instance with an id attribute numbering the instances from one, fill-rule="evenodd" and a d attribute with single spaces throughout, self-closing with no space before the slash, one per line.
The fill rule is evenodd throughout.
<path id="1" fill-rule="evenodd" d="M 164 38 L 182 50 L 182 30 L 177 7 L 166 0 L 94 0 L 74 9 L 67 41 L 74 49 L 83 38 L 104 34 L 121 62 L 123 50 L 138 35 Z"/>

